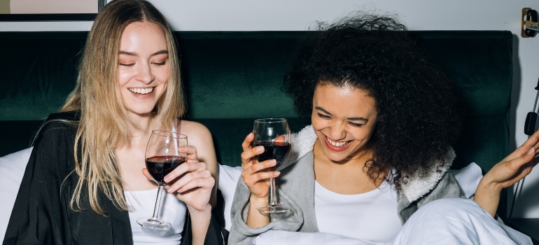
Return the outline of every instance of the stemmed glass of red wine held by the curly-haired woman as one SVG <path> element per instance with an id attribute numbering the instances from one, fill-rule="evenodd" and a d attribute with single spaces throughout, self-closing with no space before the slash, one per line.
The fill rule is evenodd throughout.
<path id="1" fill-rule="evenodd" d="M 277 164 L 269 170 L 278 169 L 290 153 L 290 129 L 288 121 L 283 118 L 265 118 L 255 120 L 253 127 L 253 146 L 264 146 L 264 153 L 257 155 L 258 162 L 275 159 Z M 290 210 L 277 202 L 276 180 L 269 179 L 269 204 L 258 207 L 258 211 L 266 214 L 278 214 Z"/>

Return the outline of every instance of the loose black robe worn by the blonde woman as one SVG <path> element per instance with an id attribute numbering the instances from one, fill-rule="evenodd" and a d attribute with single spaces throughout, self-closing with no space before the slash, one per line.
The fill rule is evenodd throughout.
<path id="1" fill-rule="evenodd" d="M 83 211 L 69 208 L 78 181 L 77 174 L 70 175 L 75 169 L 73 146 L 78 118 L 78 113 L 54 113 L 45 121 L 22 178 L 3 244 L 133 244 L 127 211 L 117 209 L 104 193 L 99 193 L 99 204 L 106 216 L 92 211 L 85 195 L 81 195 L 81 203 L 87 204 Z M 223 197 L 219 197 L 222 205 Z M 222 210 L 216 207 L 212 211 L 204 244 L 223 244 L 223 236 L 226 241 L 228 234 L 217 222 L 223 221 Z M 181 244 L 190 244 L 189 218 L 182 237 Z"/>

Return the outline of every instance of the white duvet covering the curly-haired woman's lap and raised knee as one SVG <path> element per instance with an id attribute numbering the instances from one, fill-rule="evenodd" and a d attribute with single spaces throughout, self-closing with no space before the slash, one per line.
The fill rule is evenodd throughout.
<path id="1" fill-rule="evenodd" d="M 383 232 L 383 231 L 380 231 Z M 269 230 L 253 240 L 255 245 L 373 245 L 370 241 L 322 232 Z M 494 220 L 473 200 L 436 200 L 421 207 L 402 227 L 397 237 L 384 245 L 532 245 L 531 239 Z"/>

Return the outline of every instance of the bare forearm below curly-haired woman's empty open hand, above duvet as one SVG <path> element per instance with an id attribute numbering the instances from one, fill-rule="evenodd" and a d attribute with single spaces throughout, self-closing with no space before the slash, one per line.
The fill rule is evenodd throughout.
<path id="1" fill-rule="evenodd" d="M 500 193 L 503 188 L 500 188 L 495 183 L 491 183 L 486 179 L 479 181 L 479 185 L 475 190 L 475 196 L 473 200 L 479 204 L 485 211 L 494 217 L 496 216 L 496 210 L 498 210 L 498 204 L 500 203 Z"/>

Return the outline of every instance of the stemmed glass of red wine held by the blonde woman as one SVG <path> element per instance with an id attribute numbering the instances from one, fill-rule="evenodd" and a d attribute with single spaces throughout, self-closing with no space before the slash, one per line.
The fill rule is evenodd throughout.
<path id="1" fill-rule="evenodd" d="M 178 148 L 187 146 L 187 137 L 170 131 L 153 130 L 146 146 L 146 169 L 150 172 L 155 183 L 158 183 L 158 197 L 151 218 L 138 218 L 137 223 L 153 230 L 168 230 L 172 225 L 158 218 L 161 207 L 161 196 L 167 174 L 186 162 L 186 153 L 180 153 Z"/>

